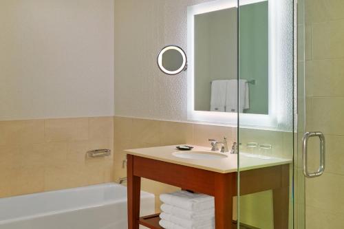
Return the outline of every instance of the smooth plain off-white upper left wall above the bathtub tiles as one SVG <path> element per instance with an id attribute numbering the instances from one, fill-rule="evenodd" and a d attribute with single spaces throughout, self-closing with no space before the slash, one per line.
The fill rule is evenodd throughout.
<path id="1" fill-rule="evenodd" d="M 1 0 L 0 34 L 0 120 L 114 114 L 114 0 Z"/>

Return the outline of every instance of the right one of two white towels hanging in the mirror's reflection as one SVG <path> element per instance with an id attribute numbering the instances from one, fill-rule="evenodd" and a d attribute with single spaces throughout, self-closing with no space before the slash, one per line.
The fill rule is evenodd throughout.
<path id="1" fill-rule="evenodd" d="M 237 80 L 228 80 L 226 96 L 226 112 L 237 112 Z M 250 108 L 250 92 L 247 80 L 239 80 L 239 112 Z"/>

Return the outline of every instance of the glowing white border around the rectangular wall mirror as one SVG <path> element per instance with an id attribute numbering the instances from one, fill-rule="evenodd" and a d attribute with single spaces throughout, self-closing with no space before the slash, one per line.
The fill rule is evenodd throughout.
<path id="1" fill-rule="evenodd" d="M 250 3 L 258 3 L 267 0 L 240 0 L 240 6 L 244 6 Z M 237 113 L 226 113 L 226 112 L 214 112 L 214 111 L 195 111 L 195 80 L 194 80 L 194 19 L 197 14 L 204 14 L 207 12 L 214 12 L 217 10 L 224 10 L 226 8 L 237 8 L 237 0 L 215 0 L 206 3 L 201 3 L 195 6 L 188 7 L 188 55 L 189 55 L 189 69 L 188 69 L 188 120 L 198 121 L 198 122 L 211 122 L 225 124 L 233 127 L 237 127 Z M 283 36 L 283 34 L 277 33 L 277 19 L 275 8 L 275 1 L 270 0 L 268 3 L 268 28 L 269 28 L 269 61 L 268 61 L 268 115 L 264 114 L 250 114 L 250 113 L 240 113 L 240 125 L 241 127 L 257 127 L 258 129 L 277 129 L 279 125 L 279 120 L 277 116 L 279 115 L 277 111 L 278 104 L 284 104 L 283 98 L 277 92 L 277 88 L 281 88 L 278 85 L 279 82 L 283 80 L 277 79 L 277 77 L 283 77 L 280 70 L 277 69 L 275 56 L 279 54 L 276 48 L 277 37 Z M 276 77 L 272 77 L 276 76 Z M 281 84 L 281 83 L 279 83 Z M 279 107 L 280 109 L 280 107 Z"/>

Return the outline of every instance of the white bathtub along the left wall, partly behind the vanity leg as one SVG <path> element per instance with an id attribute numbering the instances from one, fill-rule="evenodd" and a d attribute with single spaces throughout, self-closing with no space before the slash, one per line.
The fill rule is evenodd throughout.
<path id="1" fill-rule="evenodd" d="M 141 215 L 154 195 L 141 193 Z M 1 229 L 126 229 L 127 188 L 100 184 L 0 199 Z"/>

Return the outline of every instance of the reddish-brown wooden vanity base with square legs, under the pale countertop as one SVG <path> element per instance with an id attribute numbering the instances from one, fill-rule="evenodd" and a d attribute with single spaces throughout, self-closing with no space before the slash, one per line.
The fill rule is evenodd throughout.
<path id="1" fill-rule="evenodd" d="M 236 228 L 233 197 L 237 195 L 237 172 L 217 173 L 137 155 L 128 155 L 128 228 L 139 225 L 157 229 L 158 215 L 140 218 L 141 177 L 215 197 L 215 228 Z M 240 195 L 272 190 L 274 228 L 288 229 L 289 164 L 255 168 L 240 172 Z M 242 226 L 250 229 L 253 227 Z"/>

